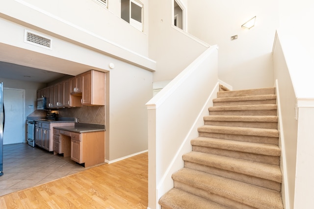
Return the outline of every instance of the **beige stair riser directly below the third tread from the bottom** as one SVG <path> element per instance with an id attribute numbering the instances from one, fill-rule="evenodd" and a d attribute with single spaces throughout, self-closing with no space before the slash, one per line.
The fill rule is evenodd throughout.
<path id="1" fill-rule="evenodd" d="M 198 170 L 198 171 L 202 171 L 202 172 L 206 172 L 206 173 L 210 173 L 210 174 L 217 175 L 217 176 L 222 176 L 222 177 L 229 178 L 229 179 L 234 179 L 237 181 L 245 182 L 245 183 L 256 185 L 256 186 L 261 186 L 261 187 L 272 189 L 272 190 L 275 190 L 278 192 L 281 191 L 281 184 L 280 183 L 266 180 L 266 179 L 261 179 L 261 178 L 254 177 L 254 176 L 248 176 L 245 174 L 235 173 L 232 171 L 227 171 L 227 170 L 223 170 L 223 169 L 219 169 L 219 168 L 215 168 L 215 167 L 210 167 L 210 166 L 202 165 L 202 164 L 198 164 L 198 163 L 192 163 L 192 162 L 188 162 L 188 161 L 184 161 L 184 167 L 191 168 L 191 169 Z"/>

